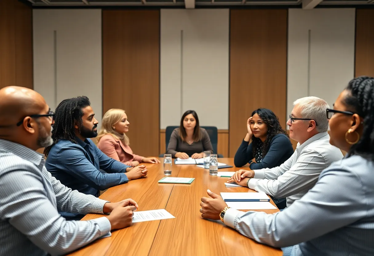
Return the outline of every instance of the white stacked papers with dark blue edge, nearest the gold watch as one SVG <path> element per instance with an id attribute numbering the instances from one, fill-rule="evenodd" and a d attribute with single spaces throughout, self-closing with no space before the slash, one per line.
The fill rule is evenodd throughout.
<path id="1" fill-rule="evenodd" d="M 270 203 L 269 196 L 263 192 L 255 193 L 227 193 L 221 192 L 222 199 L 227 203 L 227 206 L 236 210 L 264 210 L 276 209 Z"/>

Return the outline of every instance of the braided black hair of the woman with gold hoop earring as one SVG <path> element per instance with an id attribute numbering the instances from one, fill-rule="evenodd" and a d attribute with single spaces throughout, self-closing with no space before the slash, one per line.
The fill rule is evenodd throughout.
<path id="1" fill-rule="evenodd" d="M 343 103 L 348 109 L 364 118 L 364 129 L 358 143 L 353 145 L 348 156 L 361 155 L 374 161 L 374 78 L 356 77 L 348 83 L 349 93 Z"/>

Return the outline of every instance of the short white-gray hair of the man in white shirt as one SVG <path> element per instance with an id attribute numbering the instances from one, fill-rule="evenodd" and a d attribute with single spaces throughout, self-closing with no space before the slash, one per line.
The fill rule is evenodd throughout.
<path id="1" fill-rule="evenodd" d="M 310 96 L 300 98 L 294 101 L 294 106 L 300 106 L 301 118 L 313 119 L 316 122 L 318 132 L 327 132 L 328 120 L 326 117 L 326 109 L 330 106 L 321 98 Z"/>

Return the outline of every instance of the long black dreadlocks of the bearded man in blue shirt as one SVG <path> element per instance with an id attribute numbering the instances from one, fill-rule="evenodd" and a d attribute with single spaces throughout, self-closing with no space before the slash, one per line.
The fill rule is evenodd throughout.
<path id="1" fill-rule="evenodd" d="M 58 104 L 55 111 L 55 124 L 53 124 L 52 131 L 53 144 L 44 149 L 44 155 L 46 157 L 53 145 L 60 140 L 69 140 L 78 144 L 74 134 L 74 121 L 82 125 L 82 109 L 90 105 L 90 100 L 86 96 L 70 98 Z"/>

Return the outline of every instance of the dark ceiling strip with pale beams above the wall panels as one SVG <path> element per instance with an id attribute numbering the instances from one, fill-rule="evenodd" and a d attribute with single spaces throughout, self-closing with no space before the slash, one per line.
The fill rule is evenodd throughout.
<path id="1" fill-rule="evenodd" d="M 254 6 L 286 5 L 312 9 L 315 6 L 373 4 L 374 0 L 28 0 L 33 6 Z"/>

